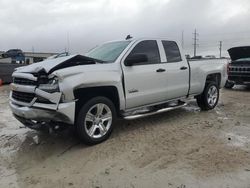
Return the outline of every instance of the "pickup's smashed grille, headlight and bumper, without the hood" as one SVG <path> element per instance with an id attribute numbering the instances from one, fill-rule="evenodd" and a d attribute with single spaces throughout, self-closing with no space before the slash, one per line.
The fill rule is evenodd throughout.
<path id="1" fill-rule="evenodd" d="M 63 102 L 58 78 L 38 73 L 13 73 L 10 107 L 25 126 L 74 124 L 75 102 Z"/>

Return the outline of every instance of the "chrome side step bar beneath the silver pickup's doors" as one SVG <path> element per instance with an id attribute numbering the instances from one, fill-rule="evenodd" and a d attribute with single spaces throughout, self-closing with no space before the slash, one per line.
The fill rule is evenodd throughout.
<path id="1" fill-rule="evenodd" d="M 175 110 L 175 109 L 184 107 L 186 105 L 187 105 L 187 103 L 183 102 L 183 103 L 178 104 L 176 106 L 170 106 L 170 107 L 166 107 L 166 108 L 161 108 L 161 109 L 156 110 L 156 111 L 151 111 L 151 112 L 147 112 L 147 113 L 139 113 L 139 114 L 124 116 L 123 119 L 126 119 L 126 120 L 138 119 L 138 118 L 142 118 L 142 117 L 146 117 L 146 116 L 151 116 L 151 115 L 155 115 L 155 114 L 167 112 L 167 111 L 170 111 L 170 110 Z"/>

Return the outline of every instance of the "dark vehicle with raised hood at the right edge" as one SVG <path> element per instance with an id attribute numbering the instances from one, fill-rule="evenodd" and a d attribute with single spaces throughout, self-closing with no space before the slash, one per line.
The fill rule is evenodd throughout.
<path id="1" fill-rule="evenodd" d="M 225 88 L 234 85 L 250 85 L 250 46 L 234 47 L 228 50 L 231 63 Z"/>

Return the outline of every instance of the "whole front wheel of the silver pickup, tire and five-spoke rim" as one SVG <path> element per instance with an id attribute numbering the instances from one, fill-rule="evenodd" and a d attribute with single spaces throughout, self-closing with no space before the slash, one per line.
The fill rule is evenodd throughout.
<path id="1" fill-rule="evenodd" d="M 106 97 L 94 97 L 79 111 L 76 126 L 80 139 L 94 145 L 108 139 L 116 118 L 114 104 Z"/>

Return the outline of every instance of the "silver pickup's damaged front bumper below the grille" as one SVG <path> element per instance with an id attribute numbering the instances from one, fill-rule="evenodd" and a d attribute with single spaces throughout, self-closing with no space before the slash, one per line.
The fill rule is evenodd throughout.
<path id="1" fill-rule="evenodd" d="M 62 122 L 65 124 L 74 124 L 75 119 L 75 102 L 60 103 L 57 110 L 52 110 L 52 105 L 34 103 L 32 107 L 20 106 L 10 101 L 10 108 L 14 115 L 35 121 L 43 122 Z M 47 108 L 45 108 L 47 107 Z"/>

